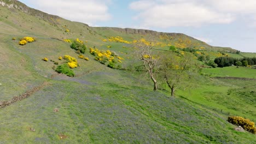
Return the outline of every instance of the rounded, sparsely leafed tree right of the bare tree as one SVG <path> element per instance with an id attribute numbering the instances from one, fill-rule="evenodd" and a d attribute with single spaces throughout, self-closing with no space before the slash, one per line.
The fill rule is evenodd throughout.
<path id="1" fill-rule="evenodd" d="M 172 96 L 174 96 L 177 88 L 189 86 L 191 79 L 199 69 L 196 67 L 197 64 L 193 59 L 193 55 L 188 53 L 182 57 L 178 57 L 174 53 L 168 53 L 168 55 L 160 58 L 159 63 L 158 76 L 167 83 L 167 86 L 171 89 Z"/>

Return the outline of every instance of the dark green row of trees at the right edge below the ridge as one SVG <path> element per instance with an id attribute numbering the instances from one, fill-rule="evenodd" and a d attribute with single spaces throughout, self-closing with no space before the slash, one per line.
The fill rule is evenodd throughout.
<path id="1" fill-rule="evenodd" d="M 256 64 L 256 57 L 253 57 L 253 58 L 217 57 L 214 59 L 214 63 L 218 64 L 218 67 L 229 67 L 231 65 L 247 67 L 248 65 Z"/>

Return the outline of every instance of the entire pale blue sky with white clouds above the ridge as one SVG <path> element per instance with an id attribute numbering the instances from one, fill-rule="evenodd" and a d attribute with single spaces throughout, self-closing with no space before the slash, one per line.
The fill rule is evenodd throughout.
<path id="1" fill-rule="evenodd" d="M 256 52 L 255 0 L 20 0 L 93 27 L 184 33 L 212 46 Z"/>

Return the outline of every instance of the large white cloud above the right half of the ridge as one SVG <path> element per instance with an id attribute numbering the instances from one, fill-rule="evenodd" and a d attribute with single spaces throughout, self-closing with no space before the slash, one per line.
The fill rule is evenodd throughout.
<path id="1" fill-rule="evenodd" d="M 231 23 L 238 16 L 256 14 L 254 0 L 151 0 L 135 1 L 129 7 L 145 27 L 167 28 Z"/>

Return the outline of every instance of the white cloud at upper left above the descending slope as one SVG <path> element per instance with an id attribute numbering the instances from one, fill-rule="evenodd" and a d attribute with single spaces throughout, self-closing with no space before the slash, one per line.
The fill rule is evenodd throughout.
<path id="1" fill-rule="evenodd" d="M 36 9 L 72 21 L 95 23 L 111 19 L 107 6 L 110 0 L 30 0 L 30 2 Z"/>

